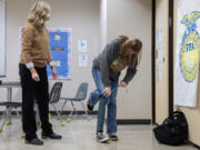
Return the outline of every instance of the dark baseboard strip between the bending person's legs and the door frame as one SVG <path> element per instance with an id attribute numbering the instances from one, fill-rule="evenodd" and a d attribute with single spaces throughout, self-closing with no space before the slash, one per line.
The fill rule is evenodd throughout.
<path id="1" fill-rule="evenodd" d="M 118 119 L 118 124 L 151 124 L 151 119 Z"/>

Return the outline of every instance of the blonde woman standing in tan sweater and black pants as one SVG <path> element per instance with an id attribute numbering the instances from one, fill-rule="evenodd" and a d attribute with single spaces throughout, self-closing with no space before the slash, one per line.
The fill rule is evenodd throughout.
<path id="1" fill-rule="evenodd" d="M 53 78 L 58 74 L 49 50 L 49 33 L 46 22 L 50 19 L 50 6 L 44 1 L 37 1 L 30 10 L 28 23 L 22 31 L 22 52 L 19 73 L 22 88 L 22 128 L 26 142 L 41 146 L 43 142 L 37 137 L 37 124 L 33 112 L 34 99 L 39 106 L 41 119 L 41 137 L 61 139 L 52 131 L 49 122 L 49 86 L 47 63 L 52 69 Z"/>

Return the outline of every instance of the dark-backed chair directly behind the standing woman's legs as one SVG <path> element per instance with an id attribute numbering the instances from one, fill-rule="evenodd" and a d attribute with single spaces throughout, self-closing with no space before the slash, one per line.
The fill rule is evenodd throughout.
<path id="1" fill-rule="evenodd" d="M 49 104 L 51 104 L 58 116 L 58 118 L 61 120 L 61 126 L 64 126 L 64 122 L 62 121 L 61 114 L 58 111 L 56 103 L 60 100 L 60 93 L 62 89 L 62 82 L 56 82 L 50 91 L 49 96 Z"/>

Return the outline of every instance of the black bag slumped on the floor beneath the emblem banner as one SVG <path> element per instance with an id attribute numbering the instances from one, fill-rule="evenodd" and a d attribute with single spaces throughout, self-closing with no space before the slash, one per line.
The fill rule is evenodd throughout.
<path id="1" fill-rule="evenodd" d="M 172 112 L 161 126 L 153 129 L 160 143 L 180 146 L 188 141 L 188 122 L 180 110 Z"/>

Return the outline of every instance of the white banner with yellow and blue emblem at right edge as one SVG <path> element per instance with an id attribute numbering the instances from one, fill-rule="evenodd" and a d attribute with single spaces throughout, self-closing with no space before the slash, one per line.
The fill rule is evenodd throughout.
<path id="1" fill-rule="evenodd" d="M 200 1 L 178 0 L 174 104 L 197 106 Z"/>

